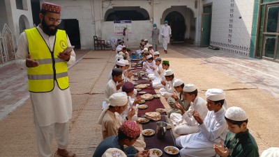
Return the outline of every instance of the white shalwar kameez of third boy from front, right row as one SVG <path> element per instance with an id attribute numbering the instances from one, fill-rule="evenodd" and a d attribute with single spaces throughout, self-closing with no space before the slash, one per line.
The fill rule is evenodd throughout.
<path id="1" fill-rule="evenodd" d="M 204 118 L 207 115 L 209 109 L 206 106 L 206 101 L 201 97 L 196 97 L 194 102 L 190 104 L 190 108 L 181 115 L 180 113 L 172 113 L 170 115 L 170 119 L 176 127 L 174 128 L 174 132 L 180 135 L 197 133 L 199 131 L 199 127 L 197 126 L 197 121 L 193 117 L 193 111 L 197 111 L 199 115 Z"/>

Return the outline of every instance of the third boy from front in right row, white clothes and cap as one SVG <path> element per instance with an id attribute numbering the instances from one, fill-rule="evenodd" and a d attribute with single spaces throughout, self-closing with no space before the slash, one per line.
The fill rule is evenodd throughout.
<path id="1" fill-rule="evenodd" d="M 172 113 L 170 115 L 173 124 L 176 124 L 174 132 L 179 135 L 197 133 L 199 127 L 197 126 L 197 121 L 193 117 L 193 112 L 197 111 L 202 119 L 204 119 L 208 111 L 206 101 L 201 97 L 197 97 L 197 88 L 192 83 L 184 85 L 183 95 L 184 99 L 190 102 L 190 108 L 186 111 L 183 106 L 176 104 L 176 108 L 180 110 L 181 114 Z"/>

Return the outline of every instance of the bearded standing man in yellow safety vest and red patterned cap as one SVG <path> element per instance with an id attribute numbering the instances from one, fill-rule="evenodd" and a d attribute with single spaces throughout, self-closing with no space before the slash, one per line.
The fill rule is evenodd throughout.
<path id="1" fill-rule="evenodd" d="M 56 139 L 60 156 L 76 156 L 68 151 L 69 120 L 72 118 L 72 98 L 68 81 L 68 65 L 75 63 L 75 52 L 61 23 L 61 6 L 44 2 L 40 24 L 21 33 L 16 65 L 27 69 L 33 122 L 36 128 L 38 154 L 52 156 L 52 140 Z"/>

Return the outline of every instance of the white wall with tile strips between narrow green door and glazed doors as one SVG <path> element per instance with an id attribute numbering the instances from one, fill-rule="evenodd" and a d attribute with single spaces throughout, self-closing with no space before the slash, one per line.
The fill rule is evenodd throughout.
<path id="1" fill-rule="evenodd" d="M 249 56 L 254 1 L 206 0 L 204 4 L 211 2 L 211 43 L 225 51 Z"/>

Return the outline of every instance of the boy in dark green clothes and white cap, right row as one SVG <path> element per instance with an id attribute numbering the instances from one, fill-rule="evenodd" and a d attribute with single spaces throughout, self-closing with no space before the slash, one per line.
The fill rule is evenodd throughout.
<path id="1" fill-rule="evenodd" d="M 216 153 L 223 157 L 258 157 L 259 149 L 257 142 L 247 129 L 248 118 L 245 111 L 239 107 L 228 108 L 225 113 L 225 119 L 229 132 L 224 144 L 221 141 L 220 145 L 214 144 L 213 149 Z"/>

